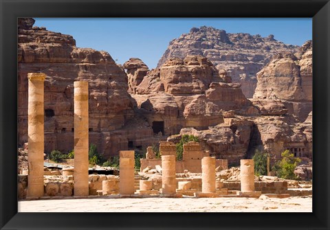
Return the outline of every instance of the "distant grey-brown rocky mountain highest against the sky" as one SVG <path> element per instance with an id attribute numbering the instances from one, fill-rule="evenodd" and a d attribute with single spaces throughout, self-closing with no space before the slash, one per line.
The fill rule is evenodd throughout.
<path id="1" fill-rule="evenodd" d="M 157 67 L 169 58 L 201 55 L 218 69 L 225 69 L 232 81 L 241 84 L 245 97 L 251 98 L 256 88 L 256 73 L 270 61 L 273 55 L 295 53 L 298 46 L 276 41 L 274 35 L 230 34 L 213 27 L 193 27 L 188 34 L 170 41 Z"/>

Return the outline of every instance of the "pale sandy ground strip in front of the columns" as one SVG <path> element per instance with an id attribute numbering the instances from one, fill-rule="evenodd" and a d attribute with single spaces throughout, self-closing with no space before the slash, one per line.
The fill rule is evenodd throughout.
<path id="1" fill-rule="evenodd" d="M 20 212 L 311 212 L 311 196 L 289 198 L 80 198 L 19 201 Z"/>

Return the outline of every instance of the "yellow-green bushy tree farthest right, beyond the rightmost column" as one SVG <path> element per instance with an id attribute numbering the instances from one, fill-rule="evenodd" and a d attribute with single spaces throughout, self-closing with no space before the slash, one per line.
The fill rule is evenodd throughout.
<path id="1" fill-rule="evenodd" d="M 281 156 L 281 161 L 277 161 L 272 168 L 272 170 L 276 171 L 276 176 L 283 179 L 298 179 L 294 174 L 294 169 L 301 160 L 298 157 L 294 157 L 294 154 L 289 150 L 282 152 Z"/>

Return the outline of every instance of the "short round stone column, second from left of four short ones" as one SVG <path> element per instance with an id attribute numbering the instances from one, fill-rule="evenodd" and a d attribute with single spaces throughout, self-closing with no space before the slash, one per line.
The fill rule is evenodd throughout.
<path id="1" fill-rule="evenodd" d="M 175 194 L 177 183 L 175 181 L 175 156 L 162 156 L 162 193 Z"/>

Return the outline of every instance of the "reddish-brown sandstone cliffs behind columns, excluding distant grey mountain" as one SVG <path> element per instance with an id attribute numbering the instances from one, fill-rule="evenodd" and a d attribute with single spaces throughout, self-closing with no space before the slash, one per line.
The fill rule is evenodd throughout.
<path id="1" fill-rule="evenodd" d="M 121 67 L 107 52 L 78 48 L 72 36 L 33 27 L 33 23 L 33 19 L 19 20 L 21 146 L 28 141 L 27 75 L 40 71 L 47 76 L 45 152 L 68 152 L 74 148 L 73 84 L 75 80 L 86 80 L 89 143 L 96 144 L 105 158 L 118 155 L 119 150 L 142 152 L 146 146 L 167 138 L 176 141 L 186 133 L 197 135 L 203 149 L 229 163 L 251 157 L 257 148 L 270 152 L 273 159 L 280 158 L 286 149 L 299 157 L 311 157 L 312 115 L 309 113 L 302 120 L 296 113 L 302 111 L 304 102 L 311 100 L 311 46 L 297 49 L 295 56 L 285 53 L 269 58 L 269 65 L 257 75 L 260 85 L 255 97 L 249 100 L 241 84 L 230 77 L 233 61 L 228 61 L 231 72 L 227 68 L 217 69 L 219 65 L 200 55 L 168 58 L 162 66 L 151 70 L 139 58 L 131 58 Z M 190 33 L 198 34 L 200 30 L 204 28 Z M 219 32 L 219 44 L 228 50 L 237 47 L 239 43 L 233 45 L 232 37 Z M 252 38 L 244 39 L 254 41 L 257 37 Z M 274 46 L 278 43 L 274 38 L 267 39 Z M 252 43 L 253 47 L 256 45 Z M 287 49 L 284 44 L 280 47 Z M 252 51 L 249 55 L 256 56 Z M 226 62 L 221 63 L 226 67 Z M 276 82 L 277 78 L 281 82 Z M 278 87 L 285 91 L 285 84 L 293 87 L 292 92 L 278 92 L 275 97 L 277 94 L 269 89 Z M 300 107 L 294 107 L 296 103 Z"/>

